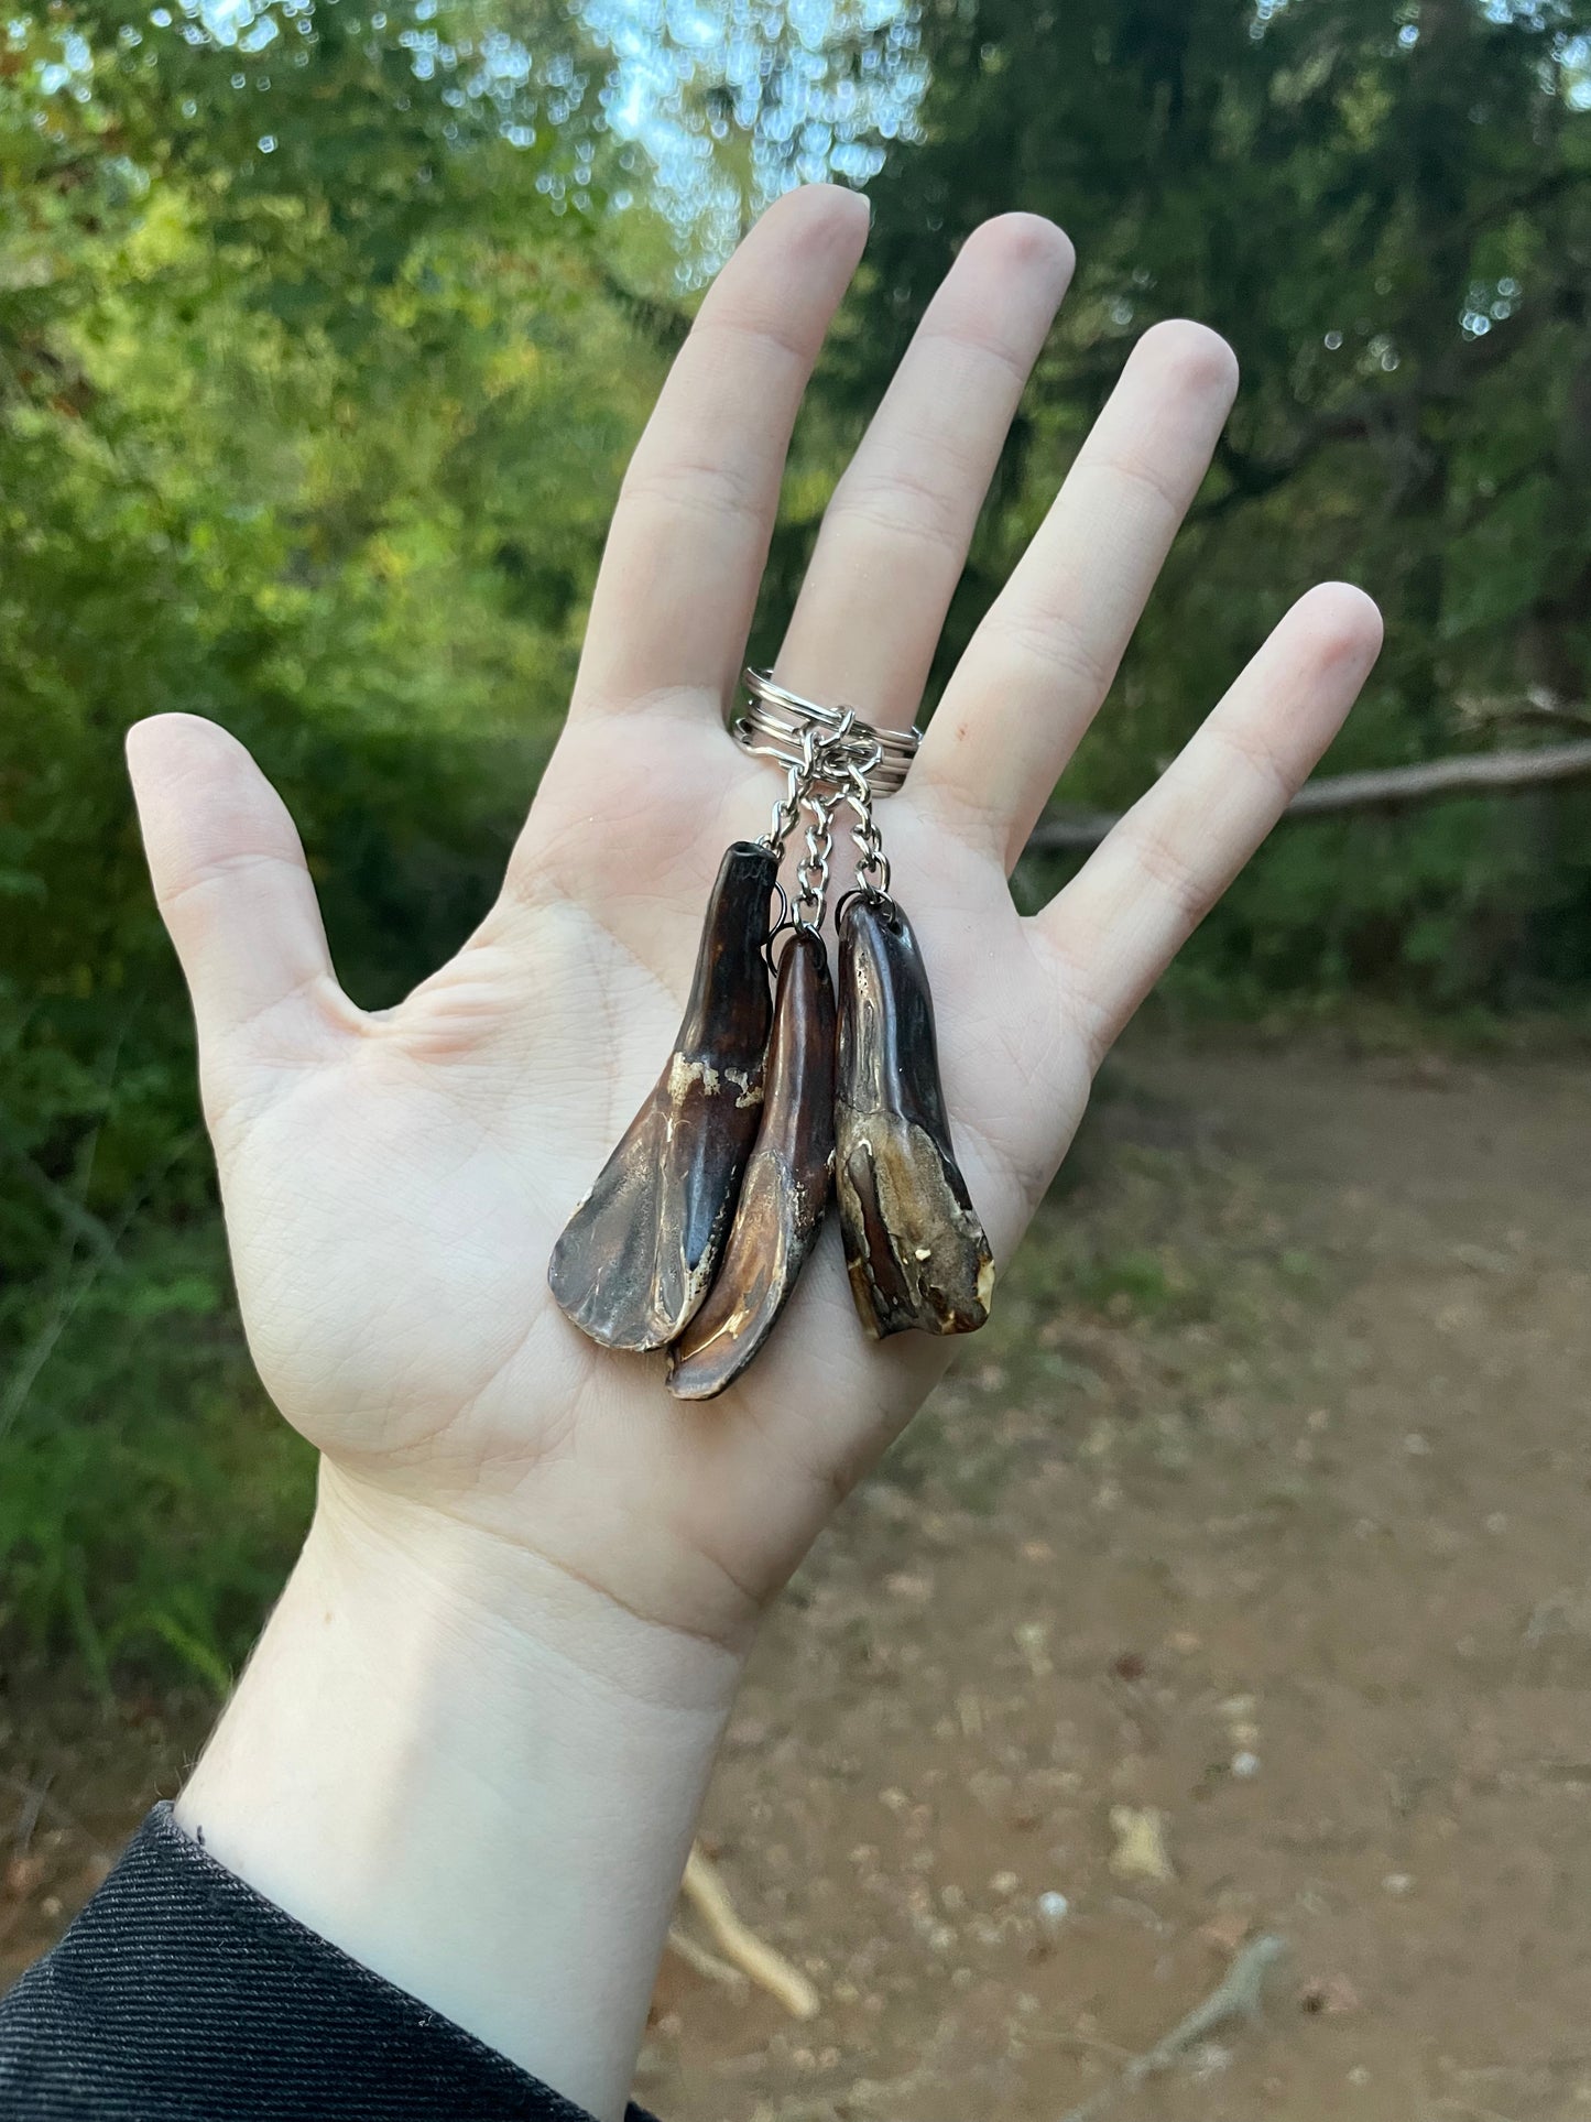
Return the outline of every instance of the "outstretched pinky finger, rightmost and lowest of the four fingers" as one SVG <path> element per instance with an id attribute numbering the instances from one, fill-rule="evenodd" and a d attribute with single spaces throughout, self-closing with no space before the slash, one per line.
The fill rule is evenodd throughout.
<path id="1" fill-rule="evenodd" d="M 1095 1061 L 1271 832 L 1381 651 L 1362 590 L 1322 584 L 1154 787 L 1037 915 L 1095 1027 Z"/>

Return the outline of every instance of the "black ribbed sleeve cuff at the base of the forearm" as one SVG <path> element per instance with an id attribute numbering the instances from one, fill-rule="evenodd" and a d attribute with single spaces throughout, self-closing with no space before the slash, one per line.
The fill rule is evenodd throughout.
<path id="1" fill-rule="evenodd" d="M 0 1999 L 0 2118 L 590 2122 L 257 1895 L 170 1806 Z"/>

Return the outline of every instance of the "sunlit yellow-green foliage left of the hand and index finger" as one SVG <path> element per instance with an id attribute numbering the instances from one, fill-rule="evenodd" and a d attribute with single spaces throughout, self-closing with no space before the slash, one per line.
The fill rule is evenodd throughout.
<path id="1" fill-rule="evenodd" d="M 0 1615 L 100 1672 L 218 1681 L 305 1498 L 121 732 L 235 730 L 350 991 L 397 999 L 501 876 L 662 365 L 556 212 L 594 180 L 569 112 L 513 144 L 520 85 L 465 123 L 462 62 L 426 85 L 350 8 L 308 19 L 242 87 L 235 51 L 95 6 L 13 25 L 0 68 Z"/>

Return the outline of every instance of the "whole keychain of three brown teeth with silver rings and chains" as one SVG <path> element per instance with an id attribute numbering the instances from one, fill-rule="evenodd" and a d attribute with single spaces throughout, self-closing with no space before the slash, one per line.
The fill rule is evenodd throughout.
<path id="1" fill-rule="evenodd" d="M 927 972 L 874 819 L 921 734 L 819 707 L 766 671 L 742 683 L 732 734 L 785 768 L 785 794 L 762 840 L 723 855 L 675 1050 L 547 1275 L 594 1341 L 666 1347 L 668 1390 L 687 1401 L 723 1392 L 755 1358 L 832 1188 L 874 1339 L 972 1333 L 995 1280 L 950 1146 Z M 857 870 L 836 906 L 836 1002 L 823 921 L 840 808 Z M 779 868 L 802 825 L 787 900 Z"/>

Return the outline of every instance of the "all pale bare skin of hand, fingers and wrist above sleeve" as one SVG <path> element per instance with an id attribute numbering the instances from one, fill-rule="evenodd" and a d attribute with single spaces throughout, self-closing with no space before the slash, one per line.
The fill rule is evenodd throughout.
<path id="1" fill-rule="evenodd" d="M 545 1282 L 668 1053 L 719 855 L 768 821 L 776 775 L 723 713 L 866 229 L 855 195 L 793 193 L 715 282 L 626 477 L 503 893 L 397 1010 L 337 987 L 297 834 L 242 747 L 185 715 L 129 738 L 250 1350 L 322 1451 L 303 1558 L 178 1821 L 602 2122 L 757 1617 L 955 1352 L 868 1341 L 834 1231 L 709 1405 L 670 1401 L 662 1358 L 590 1345 Z M 834 494 L 785 683 L 912 719 L 1069 272 L 1027 214 L 963 246 Z M 1078 879 L 1018 917 L 1010 866 L 1235 388 L 1203 327 L 1143 337 L 880 811 L 997 1263 L 1109 1042 L 1377 656 L 1368 598 L 1311 590 Z"/>

